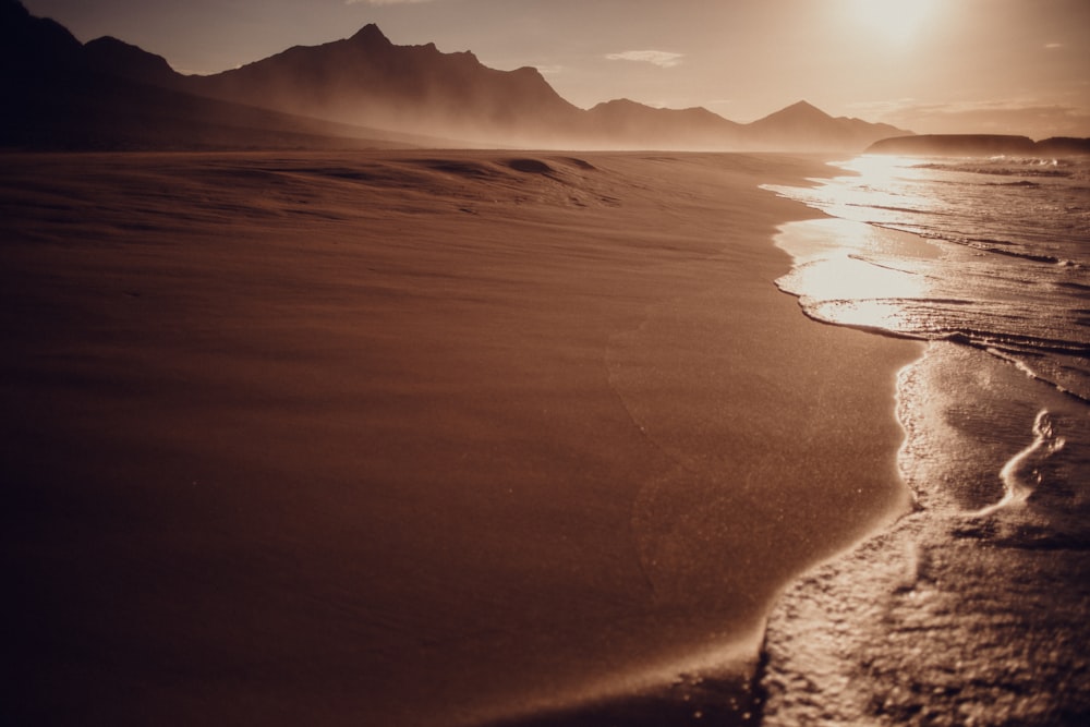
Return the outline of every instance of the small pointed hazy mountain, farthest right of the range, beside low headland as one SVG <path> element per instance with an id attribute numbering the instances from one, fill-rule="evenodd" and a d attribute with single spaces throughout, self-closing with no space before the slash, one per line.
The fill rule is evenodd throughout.
<path id="1" fill-rule="evenodd" d="M 779 150 L 859 150 L 876 140 L 905 132 L 889 124 L 847 117 L 833 118 L 799 101 L 744 128 L 752 146 Z"/>

